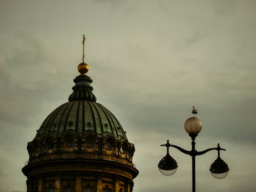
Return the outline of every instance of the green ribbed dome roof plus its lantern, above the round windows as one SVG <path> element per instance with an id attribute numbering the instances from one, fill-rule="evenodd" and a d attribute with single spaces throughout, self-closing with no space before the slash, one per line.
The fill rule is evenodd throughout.
<path id="1" fill-rule="evenodd" d="M 127 140 L 125 132 L 117 118 L 103 105 L 95 102 L 88 76 L 79 75 L 74 79 L 76 85 L 69 97 L 69 102 L 60 105 L 42 123 L 37 130 L 36 139 L 48 136 L 62 137 L 72 134 L 83 137 L 88 134 L 114 140 Z"/>

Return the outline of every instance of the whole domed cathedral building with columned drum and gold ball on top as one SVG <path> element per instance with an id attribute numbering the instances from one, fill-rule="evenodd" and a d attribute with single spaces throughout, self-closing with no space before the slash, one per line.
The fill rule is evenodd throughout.
<path id="1" fill-rule="evenodd" d="M 96 102 L 89 66 L 69 101 L 56 108 L 28 142 L 29 161 L 22 171 L 27 192 L 132 192 L 138 170 L 135 147 L 117 118 Z"/>

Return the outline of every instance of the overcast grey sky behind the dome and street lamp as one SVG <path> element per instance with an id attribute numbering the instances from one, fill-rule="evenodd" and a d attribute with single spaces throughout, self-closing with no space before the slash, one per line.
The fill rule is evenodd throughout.
<path id="1" fill-rule="evenodd" d="M 173 176 L 157 164 L 167 139 L 190 150 L 193 105 L 197 150 L 220 143 L 230 168 L 217 180 L 217 152 L 197 157 L 197 191 L 255 191 L 255 10 L 256 1 L 0 0 L 0 191 L 24 191 L 27 142 L 68 101 L 83 33 L 97 102 L 135 144 L 134 192 L 191 189 L 189 156 L 170 150 Z"/>

